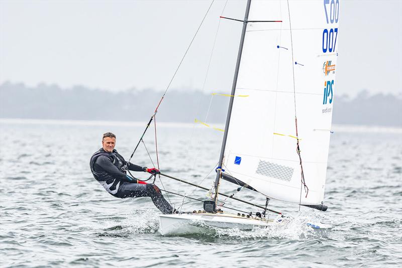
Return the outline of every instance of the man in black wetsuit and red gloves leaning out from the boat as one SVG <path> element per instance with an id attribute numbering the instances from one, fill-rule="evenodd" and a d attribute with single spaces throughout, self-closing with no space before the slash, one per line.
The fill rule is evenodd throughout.
<path id="1" fill-rule="evenodd" d="M 92 155 L 89 162 L 93 177 L 115 197 L 151 197 L 152 202 L 163 214 L 172 213 L 173 208 L 162 196 L 158 186 L 128 176 L 124 167 L 127 166 L 131 171 L 143 171 L 154 175 L 159 174 L 159 170 L 126 162 L 116 151 L 115 146 L 116 136 L 111 132 L 105 133 L 102 148 Z"/>

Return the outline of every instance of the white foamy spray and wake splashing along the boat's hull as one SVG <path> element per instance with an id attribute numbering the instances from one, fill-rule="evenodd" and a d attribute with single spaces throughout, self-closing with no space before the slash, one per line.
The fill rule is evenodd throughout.
<path id="1" fill-rule="evenodd" d="M 254 228 L 252 230 L 240 230 L 238 228 L 220 228 L 210 226 L 202 221 L 194 221 L 191 225 L 194 228 L 193 234 L 174 236 L 211 236 L 219 238 L 241 238 L 241 239 L 277 239 L 277 240 L 298 240 L 306 238 L 327 238 L 331 233 L 330 229 L 315 229 L 309 223 L 315 225 L 326 221 L 324 216 L 316 211 L 300 211 L 299 213 L 282 218 L 281 222 L 273 223 L 267 228 Z M 153 234 L 159 228 L 158 213 L 154 209 L 134 210 L 124 217 L 105 219 L 99 222 L 102 226 L 91 226 L 97 228 L 100 236 L 130 236 L 132 234 Z M 184 226 L 183 226 L 184 227 Z"/>

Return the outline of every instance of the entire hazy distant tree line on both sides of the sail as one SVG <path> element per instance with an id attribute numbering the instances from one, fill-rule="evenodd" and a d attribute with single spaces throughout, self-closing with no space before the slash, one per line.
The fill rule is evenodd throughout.
<path id="1" fill-rule="evenodd" d="M 0 117 L 37 119 L 80 119 L 147 121 L 153 113 L 161 92 L 127 90 L 111 92 L 75 86 L 62 89 L 57 85 L 39 84 L 27 87 L 22 83 L 0 85 Z M 157 113 L 160 121 L 192 122 L 195 118 L 223 123 L 229 98 L 213 97 L 194 90 L 168 91 Z M 402 126 L 402 100 L 391 94 L 370 95 L 361 91 L 355 98 L 336 96 L 333 122 Z"/>

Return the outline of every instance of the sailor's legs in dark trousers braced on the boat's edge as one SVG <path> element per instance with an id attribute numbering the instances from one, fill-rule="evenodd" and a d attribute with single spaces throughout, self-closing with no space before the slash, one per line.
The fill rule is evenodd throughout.
<path id="1" fill-rule="evenodd" d="M 114 195 L 119 198 L 127 197 L 151 197 L 154 205 L 163 213 L 170 214 L 173 211 L 172 206 L 166 201 L 158 186 L 154 184 L 139 184 L 124 182 L 117 193 Z"/>

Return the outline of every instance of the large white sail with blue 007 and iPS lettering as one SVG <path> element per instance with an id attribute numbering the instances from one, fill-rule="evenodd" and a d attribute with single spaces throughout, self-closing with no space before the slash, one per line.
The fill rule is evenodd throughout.
<path id="1" fill-rule="evenodd" d="M 339 7 L 338 0 L 251 2 L 249 21 L 282 22 L 247 25 L 236 95 L 248 97 L 234 98 L 224 165 L 227 174 L 267 197 L 323 201 Z M 295 116 L 307 197 L 293 138 Z"/>

